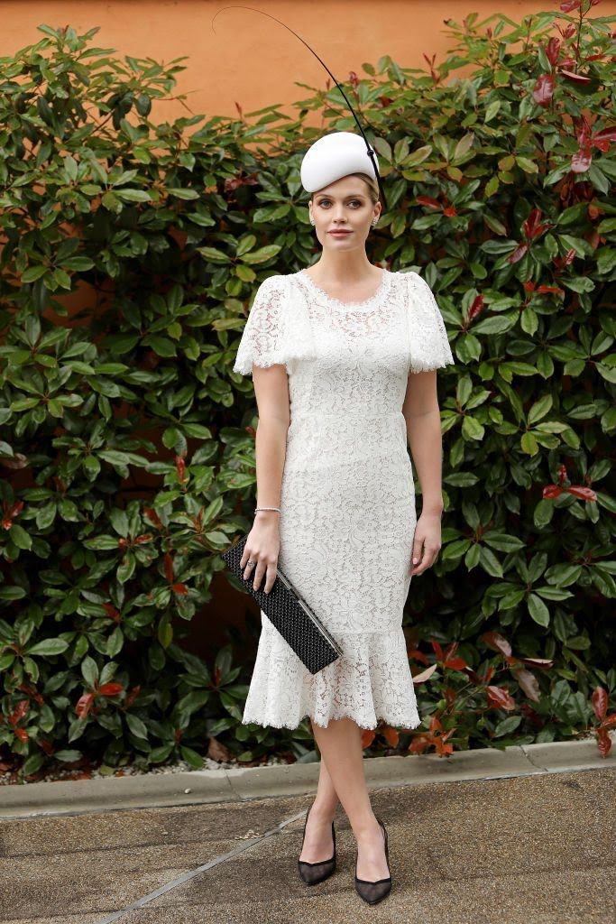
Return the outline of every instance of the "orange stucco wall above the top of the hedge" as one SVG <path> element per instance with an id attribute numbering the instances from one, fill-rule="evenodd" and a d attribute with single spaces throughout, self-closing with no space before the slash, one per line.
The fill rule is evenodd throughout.
<path id="1" fill-rule="evenodd" d="M 79 33 L 100 26 L 92 44 L 115 48 L 120 56 L 169 62 L 187 55 L 177 91 L 187 93 L 192 113 L 208 116 L 236 116 L 236 103 L 246 115 L 311 95 L 295 81 L 325 87 L 324 68 L 284 26 L 259 12 L 225 6 L 241 5 L 224 0 L 0 0 L 0 55 L 14 55 L 38 42 L 40 23 L 71 25 Z M 365 76 L 362 63 L 376 64 L 381 55 L 421 69 L 428 67 L 424 55 L 435 55 L 438 64 L 453 46 L 443 21 L 448 18 L 461 24 L 476 12 L 481 21 L 498 10 L 520 22 L 559 8 L 554 0 L 253 0 L 248 6 L 298 32 L 339 81 L 351 70 Z M 591 16 L 616 16 L 616 0 L 601 0 Z M 181 103 L 158 102 L 153 117 L 182 113 L 187 115 Z"/>

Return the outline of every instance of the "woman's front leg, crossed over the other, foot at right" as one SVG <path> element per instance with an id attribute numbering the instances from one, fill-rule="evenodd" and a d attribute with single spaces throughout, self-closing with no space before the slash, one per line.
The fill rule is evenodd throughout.
<path id="1" fill-rule="evenodd" d="M 319 746 L 321 760 L 325 760 L 333 790 L 356 836 L 357 878 L 370 881 L 385 879 L 389 876 L 385 842 L 368 796 L 364 751 L 361 746 L 362 731 L 352 719 L 332 719 L 326 728 L 312 723 L 312 733 Z M 312 811 L 308 828 L 310 821 Z M 319 858 L 323 859 L 322 856 Z"/>

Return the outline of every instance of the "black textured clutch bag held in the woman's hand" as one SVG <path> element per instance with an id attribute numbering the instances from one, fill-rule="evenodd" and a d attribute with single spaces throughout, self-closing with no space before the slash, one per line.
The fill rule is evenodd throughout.
<path id="1" fill-rule="evenodd" d="M 300 661 L 308 667 L 310 674 L 318 674 L 324 667 L 339 658 L 343 650 L 312 612 L 308 603 L 302 600 L 289 578 L 279 567 L 276 568 L 276 577 L 269 593 L 263 590 L 265 575 L 261 578 L 259 590 L 255 590 L 252 586 L 254 570 L 252 576 L 245 580 L 246 565 L 241 568 L 239 563 L 242 560 L 247 539 L 248 534 L 223 552 L 224 561 L 233 574 L 240 579 L 248 593 L 259 603 L 272 625 L 278 629 L 284 640 L 296 652 Z"/>

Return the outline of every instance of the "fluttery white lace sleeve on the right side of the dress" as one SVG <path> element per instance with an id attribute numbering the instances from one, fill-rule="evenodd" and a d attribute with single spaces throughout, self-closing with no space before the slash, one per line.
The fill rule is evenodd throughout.
<path id="1" fill-rule="evenodd" d="M 407 274 L 410 301 L 411 364 L 410 372 L 426 372 L 454 365 L 441 309 L 425 279 L 417 273 Z"/>

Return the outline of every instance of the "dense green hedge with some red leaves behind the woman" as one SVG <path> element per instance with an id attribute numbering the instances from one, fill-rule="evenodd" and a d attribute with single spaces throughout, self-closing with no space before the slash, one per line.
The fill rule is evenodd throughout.
<path id="1" fill-rule="evenodd" d="M 425 722 L 367 733 L 368 753 L 598 723 L 607 747 L 613 25 L 588 6 L 450 20 L 440 67 L 384 56 L 347 81 L 387 188 L 370 257 L 424 275 L 456 358 L 439 377 L 441 557 L 405 617 Z M 301 157 L 355 122 L 335 88 L 308 88 L 296 119 L 157 123 L 180 65 L 39 29 L 0 59 L 2 756 L 26 775 L 199 766 L 215 738 L 240 760 L 309 760 L 308 721 L 241 724 L 256 618 L 215 663 L 188 636 L 252 523 L 256 407 L 232 371 L 248 306 L 313 261 Z"/>

